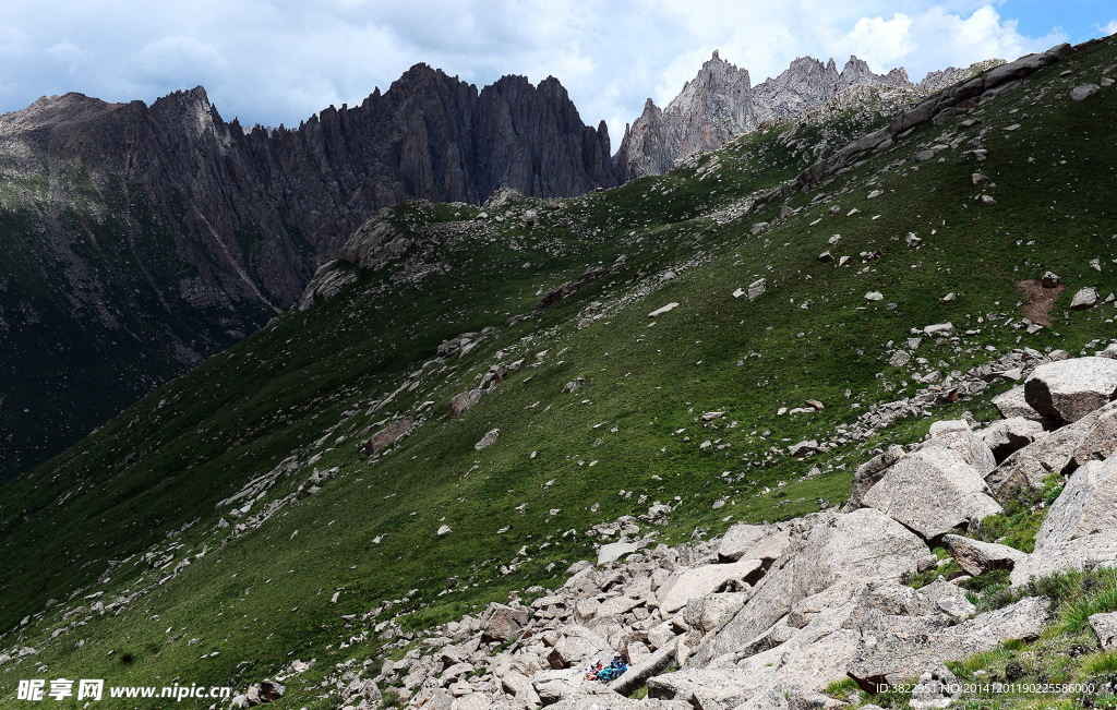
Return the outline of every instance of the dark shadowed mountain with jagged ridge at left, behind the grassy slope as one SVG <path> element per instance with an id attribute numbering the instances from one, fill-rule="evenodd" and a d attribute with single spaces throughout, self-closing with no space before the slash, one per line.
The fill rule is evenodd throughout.
<path id="1" fill-rule="evenodd" d="M 204 89 L 0 116 L 0 477 L 255 332 L 379 208 L 617 184 L 554 78 L 417 65 L 360 106 L 242 129 Z"/>

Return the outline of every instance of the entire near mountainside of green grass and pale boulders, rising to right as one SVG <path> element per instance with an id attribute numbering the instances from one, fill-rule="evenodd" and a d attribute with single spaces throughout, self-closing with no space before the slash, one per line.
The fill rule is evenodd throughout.
<path id="1" fill-rule="evenodd" d="M 0 484 L 0 706 L 898 710 L 927 654 L 1108 682 L 1117 583 L 1049 563 L 1117 564 L 1114 67 L 1060 46 L 604 191 L 382 209 L 305 308 Z M 709 543 L 739 522 L 771 546 Z M 611 651 L 633 698 L 558 701 Z"/>

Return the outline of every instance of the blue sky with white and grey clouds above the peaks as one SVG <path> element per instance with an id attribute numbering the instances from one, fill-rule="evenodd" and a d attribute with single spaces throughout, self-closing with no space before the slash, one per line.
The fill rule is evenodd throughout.
<path id="1" fill-rule="evenodd" d="M 715 49 L 753 84 L 850 55 L 918 80 L 1114 32 L 1113 0 L 0 0 L 0 113 L 203 85 L 226 119 L 295 126 L 424 61 L 478 87 L 555 76 L 615 150 Z"/>

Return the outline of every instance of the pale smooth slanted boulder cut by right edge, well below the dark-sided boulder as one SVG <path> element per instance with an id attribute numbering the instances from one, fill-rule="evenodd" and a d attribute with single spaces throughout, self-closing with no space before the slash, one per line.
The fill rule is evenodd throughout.
<path id="1" fill-rule="evenodd" d="M 1035 549 L 1117 529 L 1117 457 L 1075 471 L 1035 535 Z"/>

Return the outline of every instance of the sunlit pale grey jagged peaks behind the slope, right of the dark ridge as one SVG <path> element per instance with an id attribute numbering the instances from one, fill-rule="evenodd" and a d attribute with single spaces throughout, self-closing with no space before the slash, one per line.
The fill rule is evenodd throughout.
<path id="1" fill-rule="evenodd" d="M 878 87 L 886 92 L 910 89 L 904 94 L 904 100 L 911 102 L 996 63 L 982 63 L 970 69 L 951 67 L 928 74 L 914 85 L 903 68 L 878 75 L 865 60 L 850 57 L 839 73 L 833 59 L 823 64 L 811 57 L 800 57 L 779 76 L 753 86 L 747 69 L 722 59 L 715 50 L 698 75 L 687 81 L 666 108 L 660 109 L 648 99 L 640 117 L 626 126 L 615 161 L 626 180 L 661 175 L 676 161 L 698 151 L 719 148 L 763 124 L 798 119 L 808 111 L 825 106 L 848 93 L 851 87 Z M 859 93 L 858 98 L 870 99 L 863 93 Z"/>

